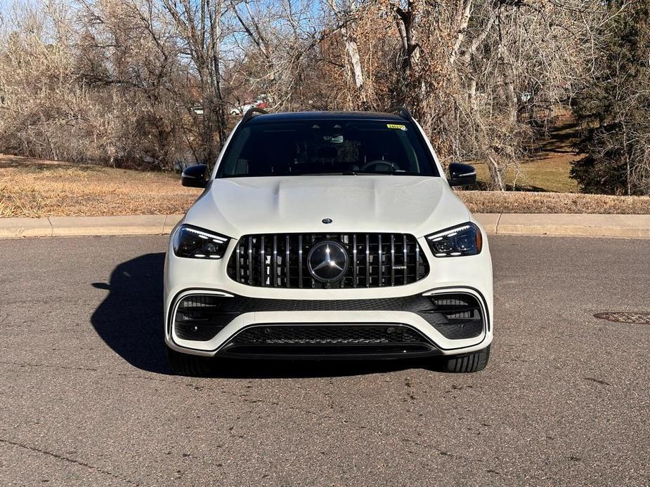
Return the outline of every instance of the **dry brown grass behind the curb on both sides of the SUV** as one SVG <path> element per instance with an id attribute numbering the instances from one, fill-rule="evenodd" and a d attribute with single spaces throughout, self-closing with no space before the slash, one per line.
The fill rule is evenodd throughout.
<path id="1" fill-rule="evenodd" d="M 0 155 L 0 217 L 185 213 L 200 189 L 178 175 Z M 650 213 L 650 196 L 460 191 L 476 213 Z"/>

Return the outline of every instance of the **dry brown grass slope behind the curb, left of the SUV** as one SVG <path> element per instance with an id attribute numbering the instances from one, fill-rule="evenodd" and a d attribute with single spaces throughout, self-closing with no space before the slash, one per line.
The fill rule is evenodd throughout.
<path id="1" fill-rule="evenodd" d="M 199 194 L 178 175 L 0 155 L 0 217 L 185 213 Z"/>

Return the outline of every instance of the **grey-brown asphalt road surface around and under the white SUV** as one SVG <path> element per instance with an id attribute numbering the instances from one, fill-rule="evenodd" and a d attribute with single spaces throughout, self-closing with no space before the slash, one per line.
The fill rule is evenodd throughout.
<path id="1" fill-rule="evenodd" d="M 492 237 L 486 371 L 169 375 L 167 238 L 0 241 L 0 485 L 650 483 L 650 241 Z"/>

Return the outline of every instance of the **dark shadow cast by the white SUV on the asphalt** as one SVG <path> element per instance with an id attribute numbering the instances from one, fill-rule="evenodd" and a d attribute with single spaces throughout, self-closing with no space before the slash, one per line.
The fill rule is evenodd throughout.
<path id="1" fill-rule="evenodd" d="M 113 269 L 109 283 L 92 286 L 109 291 L 91 316 L 97 334 L 115 353 L 143 371 L 171 374 L 163 335 L 164 253 L 149 253 L 122 262 Z M 286 361 L 218 360 L 219 378 L 336 377 L 429 368 L 430 361 Z"/>

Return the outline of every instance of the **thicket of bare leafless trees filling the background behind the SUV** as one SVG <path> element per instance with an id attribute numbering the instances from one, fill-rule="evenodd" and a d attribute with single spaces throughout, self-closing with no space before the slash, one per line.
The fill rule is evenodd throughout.
<path id="1" fill-rule="evenodd" d="M 505 189 L 593 72 L 600 0 L 76 0 L 0 27 L 0 147 L 214 161 L 232 105 L 407 106 L 444 164 Z M 641 133 L 629 133 L 630 140 Z M 632 170 L 630 170 L 632 171 Z"/>

